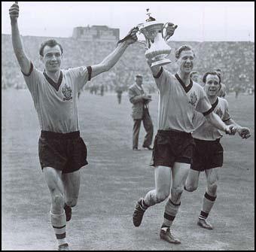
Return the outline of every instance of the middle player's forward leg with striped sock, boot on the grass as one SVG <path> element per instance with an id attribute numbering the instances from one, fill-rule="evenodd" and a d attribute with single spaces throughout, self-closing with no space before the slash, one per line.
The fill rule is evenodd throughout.
<path id="1" fill-rule="evenodd" d="M 189 170 L 190 164 L 181 162 L 175 162 L 172 169 L 171 195 L 166 202 L 163 224 L 160 230 L 160 238 L 174 244 L 179 244 L 181 241 L 171 234 L 170 227 L 172 226 L 172 222 L 175 219 L 175 216 L 178 213 L 178 208 L 181 205 L 181 194 L 183 192 Z"/>

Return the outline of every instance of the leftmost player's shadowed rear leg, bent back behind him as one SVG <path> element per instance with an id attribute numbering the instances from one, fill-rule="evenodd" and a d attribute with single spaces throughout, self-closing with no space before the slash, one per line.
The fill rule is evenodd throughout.
<path id="1" fill-rule="evenodd" d="M 65 187 L 65 205 L 66 220 L 72 217 L 72 208 L 78 203 L 78 195 L 80 189 L 80 170 L 62 174 L 62 181 Z"/>

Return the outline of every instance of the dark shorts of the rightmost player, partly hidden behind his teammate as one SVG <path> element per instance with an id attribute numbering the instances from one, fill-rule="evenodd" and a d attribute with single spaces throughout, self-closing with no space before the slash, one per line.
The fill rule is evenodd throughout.
<path id="1" fill-rule="evenodd" d="M 190 169 L 203 172 L 223 165 L 223 147 L 220 139 L 205 141 L 194 138 L 196 147 Z"/>

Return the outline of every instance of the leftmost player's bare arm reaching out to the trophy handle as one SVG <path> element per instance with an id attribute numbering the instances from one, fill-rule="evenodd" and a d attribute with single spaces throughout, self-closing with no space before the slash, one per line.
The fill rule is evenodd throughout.
<path id="1" fill-rule="evenodd" d="M 114 51 L 112 51 L 108 56 L 106 56 L 105 59 L 103 59 L 102 62 L 98 65 L 92 65 L 91 76 L 95 77 L 96 75 L 111 69 L 123 55 L 126 48 L 130 44 L 133 44 L 135 41 L 138 40 L 136 32 L 138 32 L 138 28 L 131 29 L 128 35 L 126 36 L 126 39 L 118 43 Z"/>

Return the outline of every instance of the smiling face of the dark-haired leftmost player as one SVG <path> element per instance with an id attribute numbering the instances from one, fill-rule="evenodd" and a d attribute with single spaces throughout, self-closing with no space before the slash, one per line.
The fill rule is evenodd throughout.
<path id="1" fill-rule="evenodd" d="M 45 46 L 44 56 L 41 56 L 41 61 L 44 62 L 46 71 L 59 71 L 62 62 L 62 53 L 59 45 L 56 44 L 54 47 Z"/>

